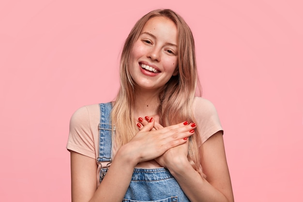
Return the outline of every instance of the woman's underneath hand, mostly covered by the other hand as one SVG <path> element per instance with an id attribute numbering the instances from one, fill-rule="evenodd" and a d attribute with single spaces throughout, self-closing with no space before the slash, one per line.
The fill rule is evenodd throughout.
<path id="1" fill-rule="evenodd" d="M 139 130 L 141 130 L 144 127 L 144 125 L 148 124 L 148 119 L 149 119 L 149 117 L 146 117 L 145 119 L 142 119 L 142 118 L 139 119 L 139 120 L 143 120 L 143 121 L 140 121 L 142 126 L 138 125 L 138 126 L 140 126 L 140 127 L 138 127 Z M 193 124 L 193 123 L 191 123 L 191 124 Z M 160 128 L 163 128 L 163 126 L 161 124 L 155 122 L 152 130 L 157 130 Z M 194 128 L 196 128 L 196 124 L 193 124 L 193 129 Z M 158 164 L 167 168 L 168 170 L 179 168 L 179 166 L 181 168 L 182 165 L 184 165 L 184 162 L 186 162 L 186 161 L 188 162 L 188 159 L 187 159 L 188 144 L 189 144 L 189 141 L 187 140 L 184 144 L 167 150 L 167 152 L 165 152 L 163 155 L 155 158 L 155 161 L 157 161 Z"/>

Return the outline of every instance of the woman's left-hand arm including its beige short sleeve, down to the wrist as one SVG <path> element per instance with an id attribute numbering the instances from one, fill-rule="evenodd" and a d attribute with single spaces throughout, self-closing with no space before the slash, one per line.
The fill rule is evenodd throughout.
<path id="1" fill-rule="evenodd" d="M 70 121 L 67 149 L 71 152 L 73 202 L 89 202 L 97 199 L 99 202 L 121 202 L 129 185 L 132 166 L 135 164 L 132 164 L 131 160 L 125 162 L 128 158 L 117 152 L 106 177 L 97 189 L 95 139 L 93 138 L 92 128 L 97 128 L 100 115 L 90 112 L 98 111 L 98 108 L 98 105 L 82 107 L 76 110 Z M 90 122 L 89 120 L 97 121 Z M 123 171 L 121 171 L 122 169 Z M 122 174 L 123 176 L 120 176 Z M 115 193 L 113 193 L 114 191 Z"/>

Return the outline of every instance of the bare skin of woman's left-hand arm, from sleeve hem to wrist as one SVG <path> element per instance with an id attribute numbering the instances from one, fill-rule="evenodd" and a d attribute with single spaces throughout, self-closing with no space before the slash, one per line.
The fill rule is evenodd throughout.
<path id="1" fill-rule="evenodd" d="M 95 159 L 71 152 L 73 202 L 121 202 L 123 200 L 135 166 L 118 153 L 97 189 Z"/>

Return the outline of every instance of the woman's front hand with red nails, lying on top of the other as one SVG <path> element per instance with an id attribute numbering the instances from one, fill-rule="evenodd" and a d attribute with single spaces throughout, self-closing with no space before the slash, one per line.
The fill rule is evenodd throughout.
<path id="1" fill-rule="evenodd" d="M 123 150 L 122 154 L 126 155 L 125 157 L 129 158 L 134 166 L 139 162 L 155 159 L 167 150 L 184 144 L 187 138 L 193 135 L 189 132 L 193 128 L 187 122 L 157 130 L 153 129 L 154 124 L 155 121 L 151 118 L 148 124 L 141 125 L 140 131 L 131 141 L 120 148 Z"/>

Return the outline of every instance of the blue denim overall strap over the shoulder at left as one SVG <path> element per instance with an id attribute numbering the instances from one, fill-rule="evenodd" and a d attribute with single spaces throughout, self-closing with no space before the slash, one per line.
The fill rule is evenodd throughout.
<path id="1" fill-rule="evenodd" d="M 116 126 L 111 124 L 110 112 L 111 102 L 101 103 L 100 124 L 99 124 L 99 157 L 98 162 L 111 162 L 111 135 L 116 130 Z"/>

